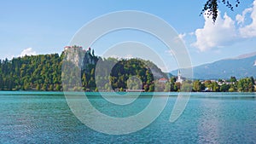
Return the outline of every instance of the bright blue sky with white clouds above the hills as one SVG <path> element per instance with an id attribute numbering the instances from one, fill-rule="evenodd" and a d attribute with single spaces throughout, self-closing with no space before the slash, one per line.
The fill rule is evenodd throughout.
<path id="1" fill-rule="evenodd" d="M 203 4 L 201 0 L 194 0 L 193 3 L 188 0 L 2 1 L 0 59 L 61 54 L 86 23 L 102 14 L 122 10 L 138 10 L 165 20 L 183 39 L 193 66 L 256 51 L 256 0 L 241 1 L 234 11 L 220 4 L 218 20 L 214 25 L 211 19 L 200 16 Z M 152 39 L 141 32 L 113 32 L 97 41 L 92 49 L 95 49 L 96 55 L 102 55 L 105 46 L 136 40 L 160 47 L 160 43 Z M 162 50 L 162 53 L 165 59 L 168 56 L 173 59 L 168 51 Z M 176 68 L 170 66 L 164 71 Z"/>

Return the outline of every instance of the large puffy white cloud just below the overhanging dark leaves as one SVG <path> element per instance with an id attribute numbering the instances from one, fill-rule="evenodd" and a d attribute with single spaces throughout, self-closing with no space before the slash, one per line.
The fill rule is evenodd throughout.
<path id="1" fill-rule="evenodd" d="M 218 15 L 221 15 L 218 12 Z M 224 17 L 218 16 L 215 24 L 212 19 L 205 18 L 205 26 L 195 30 L 196 42 L 192 45 L 201 51 L 206 51 L 214 47 L 222 47 L 236 39 L 236 26 L 226 13 Z"/>

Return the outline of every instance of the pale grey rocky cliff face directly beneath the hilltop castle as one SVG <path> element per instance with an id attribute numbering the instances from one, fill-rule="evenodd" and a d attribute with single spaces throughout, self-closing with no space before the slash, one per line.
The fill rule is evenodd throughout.
<path id="1" fill-rule="evenodd" d="M 67 46 L 64 49 L 64 60 L 72 62 L 75 66 L 78 66 L 82 70 L 86 69 L 88 65 L 96 64 L 96 56 L 90 48 L 88 50 L 83 49 L 79 46 Z"/>

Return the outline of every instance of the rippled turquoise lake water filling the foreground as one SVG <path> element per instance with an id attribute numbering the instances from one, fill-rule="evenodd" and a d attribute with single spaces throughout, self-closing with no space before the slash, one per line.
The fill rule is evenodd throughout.
<path id="1" fill-rule="evenodd" d="M 123 111 L 90 97 L 102 112 L 124 116 L 139 112 L 150 99 L 138 98 L 137 106 Z M 176 99 L 170 96 L 160 117 L 145 129 L 107 135 L 81 123 L 61 92 L 1 91 L 0 143 L 256 143 L 255 94 L 193 93 L 181 117 L 170 123 Z"/>

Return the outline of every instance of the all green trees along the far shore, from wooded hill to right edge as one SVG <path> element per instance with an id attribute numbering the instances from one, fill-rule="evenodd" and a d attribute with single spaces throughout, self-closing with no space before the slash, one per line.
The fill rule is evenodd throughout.
<path id="1" fill-rule="evenodd" d="M 90 54 L 89 54 L 90 55 Z M 67 89 L 85 91 L 112 91 L 119 89 L 144 89 L 145 91 L 214 91 L 214 92 L 253 92 L 254 78 L 235 77 L 224 81 L 184 80 L 176 82 L 176 77 L 167 78 L 160 68 L 151 61 L 140 59 L 117 60 L 102 59 L 90 55 L 93 60 L 101 61 L 103 67 L 96 69 L 96 63 L 84 64 L 82 70 L 74 66 L 68 70 L 68 77 L 61 78 L 61 68 L 65 53 L 61 55 L 32 55 L 0 60 L 0 90 L 42 90 L 61 91 Z M 113 67 L 112 67 L 113 66 Z M 75 72 L 80 71 L 76 76 Z M 110 71 L 110 74 L 108 74 Z M 97 73 L 97 74 L 96 74 Z M 156 74 L 155 74 L 156 73 Z M 63 72 L 62 72 L 63 74 Z M 96 75 L 96 76 L 95 76 Z M 81 85 L 73 85 L 74 77 L 80 77 Z M 160 82 L 165 78 L 166 82 Z M 61 81 L 65 82 L 62 85 Z"/>

